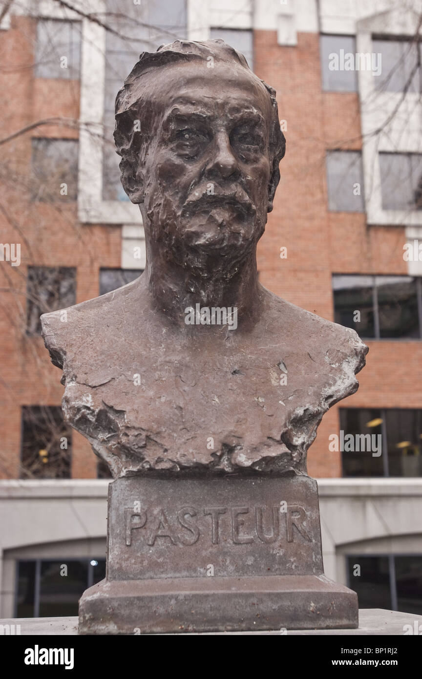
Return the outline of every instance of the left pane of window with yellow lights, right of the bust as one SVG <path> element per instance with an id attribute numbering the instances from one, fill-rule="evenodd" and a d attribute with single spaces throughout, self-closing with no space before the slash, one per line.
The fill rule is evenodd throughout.
<path id="1" fill-rule="evenodd" d="M 372 456 L 372 452 L 377 452 L 377 444 L 382 439 L 372 439 L 372 435 L 381 435 L 381 410 L 366 408 L 341 408 L 340 409 L 340 429 L 344 436 L 353 436 L 353 445 L 343 446 L 345 449 L 341 453 L 344 477 L 360 476 L 383 476 L 383 454 L 378 457 Z M 341 435 L 342 436 L 342 435 Z M 363 439 L 363 437 L 366 439 Z M 368 439 L 368 436 L 371 439 Z M 360 437 L 356 439 L 356 437 Z M 341 441 L 341 438 L 340 438 Z M 359 441 L 360 451 L 357 452 L 357 442 Z M 372 446 L 372 441 L 375 443 Z M 362 450 L 362 447 L 364 448 Z"/>

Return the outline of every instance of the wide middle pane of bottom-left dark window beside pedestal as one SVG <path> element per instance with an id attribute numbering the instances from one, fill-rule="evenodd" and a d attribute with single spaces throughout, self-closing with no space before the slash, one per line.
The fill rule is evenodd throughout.
<path id="1" fill-rule="evenodd" d="M 78 601 L 87 583 L 86 561 L 63 559 L 41 562 L 39 617 L 77 615 Z"/>

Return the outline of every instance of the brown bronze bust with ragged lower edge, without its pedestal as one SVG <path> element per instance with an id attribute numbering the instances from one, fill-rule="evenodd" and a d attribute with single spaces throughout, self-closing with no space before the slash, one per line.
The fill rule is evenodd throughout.
<path id="1" fill-rule="evenodd" d="M 176 41 L 141 54 L 115 118 L 147 266 L 66 322 L 42 316 L 66 419 L 115 477 L 305 474 L 317 426 L 358 388 L 367 348 L 258 283 L 285 151 L 274 90 L 223 41 Z"/>

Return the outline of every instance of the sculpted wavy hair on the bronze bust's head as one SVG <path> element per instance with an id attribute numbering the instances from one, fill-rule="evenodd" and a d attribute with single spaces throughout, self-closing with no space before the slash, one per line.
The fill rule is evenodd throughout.
<path id="1" fill-rule="evenodd" d="M 117 93 L 115 102 L 114 139 L 116 151 L 121 155 L 119 168 L 123 188 L 128 196 L 133 199 L 138 181 L 138 178 L 135 177 L 134 168 L 139 164 L 139 158 L 142 164 L 148 147 L 149 130 L 147 127 L 139 130 L 139 126 L 136 126 L 136 121 L 142 120 L 142 109 L 145 108 L 148 101 L 148 88 L 149 86 L 151 87 L 151 78 L 148 76 L 154 76 L 154 71 L 157 68 L 193 60 L 197 60 L 202 64 L 204 64 L 204 60 L 208 62 L 215 60 L 226 62 L 228 65 L 233 65 L 233 63 L 237 66 L 240 65 L 248 69 L 250 75 L 256 78 L 267 90 L 273 112 L 269 135 L 269 155 L 272 164 L 271 178 L 269 180 L 269 196 L 272 200 L 275 189 L 280 181 L 278 165 L 286 151 L 286 139 L 280 129 L 280 121 L 278 119 L 275 90 L 250 70 L 243 54 L 237 52 L 220 39 L 204 42 L 176 40 L 170 45 L 161 45 L 157 52 L 142 52 L 140 55 L 139 61 L 126 78 L 121 90 Z M 141 200 L 134 199 L 133 202 L 141 202 Z"/>

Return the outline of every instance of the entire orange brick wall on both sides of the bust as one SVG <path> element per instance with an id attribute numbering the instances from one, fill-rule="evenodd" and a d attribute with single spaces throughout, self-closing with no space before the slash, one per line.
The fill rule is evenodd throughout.
<path id="1" fill-rule="evenodd" d="M 24 17 L 12 18 L 12 28 L 2 33 L 2 138 L 37 120 L 78 115 L 78 81 L 34 79 L 34 40 L 35 22 Z M 358 94 L 322 92 L 318 35 L 299 33 L 296 47 L 280 47 L 275 31 L 255 31 L 254 64 L 277 90 L 280 119 L 287 122 L 280 186 L 258 247 L 260 280 L 293 304 L 332 320 L 333 273 L 406 274 L 404 229 L 367 227 L 363 214 L 328 212 L 326 149 L 360 149 L 360 116 Z M 75 203 L 31 203 L 31 136 L 73 139 L 77 130 L 50 124 L 2 147 L 1 240 L 21 242 L 22 264 L 0 263 L 0 478 L 18 474 L 21 406 L 60 405 L 63 391 L 42 339 L 24 333 L 28 265 L 76 267 L 79 302 L 98 295 L 100 267 L 119 267 L 121 255 L 119 226 L 79 224 Z M 282 246 L 287 259 L 280 259 Z M 369 344 L 360 389 L 341 405 L 420 407 L 421 342 Z M 341 475 L 340 454 L 328 452 L 328 436 L 338 429 L 334 406 L 309 450 L 311 475 Z M 96 462 L 89 443 L 73 433 L 73 477 L 95 477 Z"/>

